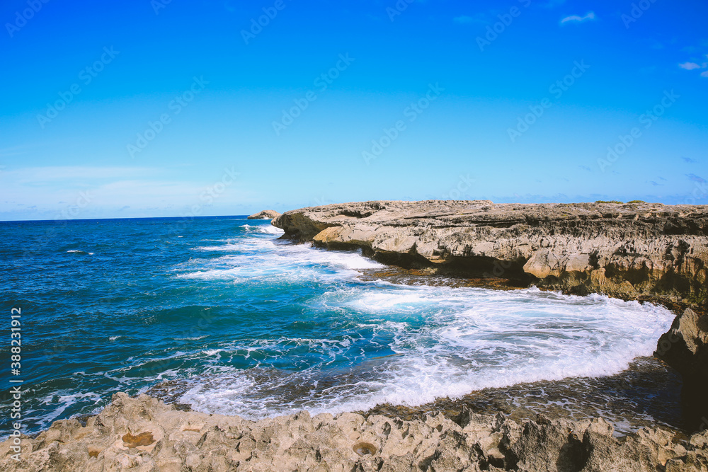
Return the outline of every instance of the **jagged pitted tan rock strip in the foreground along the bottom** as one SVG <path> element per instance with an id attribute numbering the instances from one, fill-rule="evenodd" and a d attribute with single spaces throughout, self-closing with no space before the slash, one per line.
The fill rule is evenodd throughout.
<path id="1" fill-rule="evenodd" d="M 147 395 L 113 396 L 83 427 L 55 422 L 0 444 L 3 471 L 708 471 L 708 432 L 680 442 L 643 429 L 617 439 L 604 420 L 518 424 L 464 410 L 403 421 L 307 412 L 251 422 L 174 410 Z"/>

